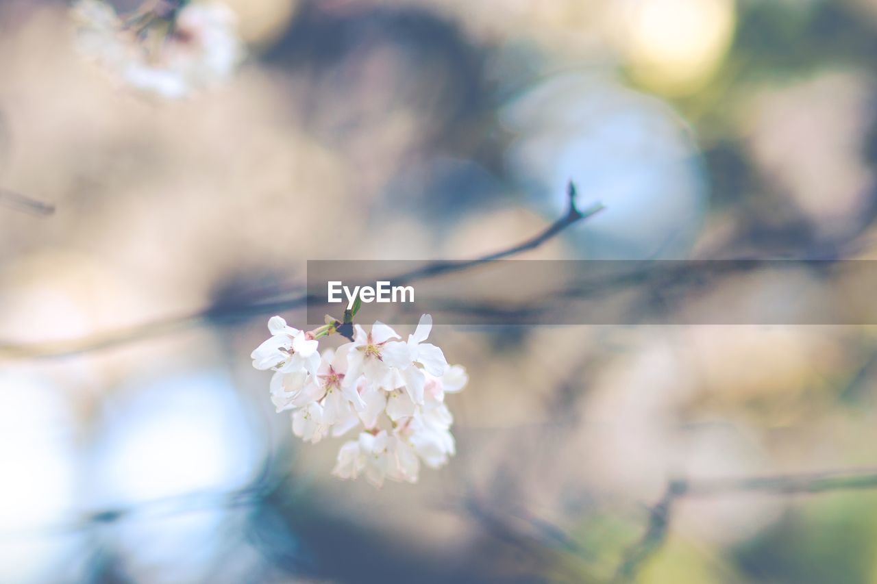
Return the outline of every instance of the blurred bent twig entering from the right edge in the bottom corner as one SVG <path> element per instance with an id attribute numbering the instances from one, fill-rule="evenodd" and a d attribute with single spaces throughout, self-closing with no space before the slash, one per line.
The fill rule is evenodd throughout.
<path id="1" fill-rule="evenodd" d="M 659 502 L 649 509 L 645 534 L 624 553 L 616 580 L 633 580 L 645 562 L 660 550 L 667 539 L 675 504 L 682 498 L 746 493 L 781 495 L 825 493 L 877 488 L 877 468 L 822 471 L 802 474 L 774 474 L 743 479 L 674 480 L 670 481 Z"/>

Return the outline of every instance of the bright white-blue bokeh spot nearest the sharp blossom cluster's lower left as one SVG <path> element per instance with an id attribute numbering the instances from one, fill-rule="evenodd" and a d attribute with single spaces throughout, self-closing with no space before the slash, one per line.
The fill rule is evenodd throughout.
<path id="1" fill-rule="evenodd" d="M 260 466 L 246 409 L 219 374 L 127 388 L 105 416 L 92 491 L 103 504 L 241 488 Z"/>

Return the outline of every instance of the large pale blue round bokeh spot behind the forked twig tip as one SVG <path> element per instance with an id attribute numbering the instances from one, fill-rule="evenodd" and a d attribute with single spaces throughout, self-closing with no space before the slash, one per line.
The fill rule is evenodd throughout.
<path id="1" fill-rule="evenodd" d="M 610 207 L 575 230 L 578 257 L 685 257 L 706 209 L 702 161 L 666 104 L 602 76 L 548 79 L 503 110 L 508 166 L 550 216 L 567 182 L 580 208 Z"/>

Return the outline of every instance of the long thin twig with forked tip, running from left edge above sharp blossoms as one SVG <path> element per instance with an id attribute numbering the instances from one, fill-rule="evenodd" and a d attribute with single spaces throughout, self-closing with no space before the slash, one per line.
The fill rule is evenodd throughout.
<path id="1" fill-rule="evenodd" d="M 566 230 L 570 225 L 576 224 L 588 217 L 592 217 L 603 210 L 602 204 L 597 203 L 588 207 L 587 210 L 580 211 L 575 204 L 576 192 L 575 186 L 572 182 L 569 183 L 567 194 L 569 196 L 569 204 L 566 214 L 531 239 L 527 239 L 520 244 L 508 247 L 496 253 L 488 253 L 487 255 L 473 260 L 434 261 L 424 267 L 418 268 L 417 270 L 410 271 L 406 274 L 399 274 L 392 278 L 392 281 L 401 283 L 423 280 L 439 274 L 464 271 L 472 267 L 477 267 L 488 261 L 502 260 L 503 258 L 517 255 L 518 253 L 524 253 L 541 246 L 549 239 L 553 239 L 559 235 L 561 231 Z M 319 299 L 315 296 L 301 294 L 274 301 L 233 303 L 211 307 L 206 310 L 198 310 L 188 315 L 162 318 L 150 323 L 137 324 L 116 331 L 107 331 L 95 335 L 89 335 L 83 338 L 74 338 L 58 342 L 26 344 L 0 343 L 0 361 L 62 357 L 76 353 L 98 351 L 108 347 L 125 345 L 145 338 L 155 338 L 162 335 L 168 335 L 206 322 L 233 323 L 256 315 L 276 314 L 283 310 L 301 308 L 309 302 L 316 302 L 318 300 Z"/>

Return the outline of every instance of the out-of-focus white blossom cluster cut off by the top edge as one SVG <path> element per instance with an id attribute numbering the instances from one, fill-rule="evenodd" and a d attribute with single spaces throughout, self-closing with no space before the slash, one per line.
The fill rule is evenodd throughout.
<path id="1" fill-rule="evenodd" d="M 122 18 L 101 0 L 76 0 L 77 47 L 118 82 L 165 98 L 225 82 L 244 51 L 234 12 L 223 4 L 147 0 Z"/>

